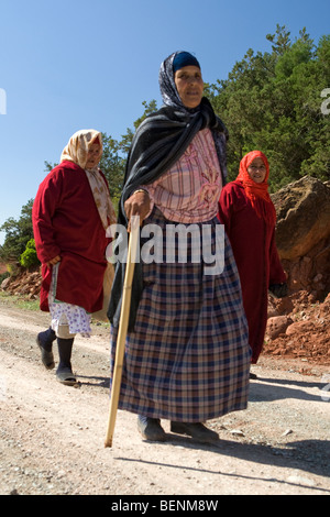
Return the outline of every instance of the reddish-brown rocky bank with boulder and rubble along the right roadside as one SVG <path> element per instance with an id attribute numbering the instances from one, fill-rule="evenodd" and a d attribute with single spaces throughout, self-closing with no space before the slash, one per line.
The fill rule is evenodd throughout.
<path id="1" fill-rule="evenodd" d="M 268 298 L 264 353 L 330 364 L 329 187 L 305 176 L 272 196 L 289 296 Z"/>

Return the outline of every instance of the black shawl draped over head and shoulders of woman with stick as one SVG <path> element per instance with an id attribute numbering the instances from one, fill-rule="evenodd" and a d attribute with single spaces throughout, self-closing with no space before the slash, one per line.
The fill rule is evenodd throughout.
<path id="1" fill-rule="evenodd" d="M 228 132 L 222 121 L 216 116 L 209 100 L 204 97 L 198 108 L 186 108 L 174 82 L 173 61 L 178 53 L 172 54 L 162 63 L 160 88 L 164 106 L 150 114 L 138 128 L 129 152 L 123 190 L 119 204 L 118 222 L 128 226 L 124 211 L 127 199 L 142 185 L 155 182 L 168 170 L 185 153 L 198 131 L 209 128 L 212 132 L 216 150 L 226 183 L 226 141 Z M 121 237 L 119 235 L 118 243 Z M 114 248 L 116 252 L 116 248 Z M 108 317 L 114 327 L 119 324 L 124 263 L 117 263 L 112 285 Z M 135 264 L 132 285 L 129 331 L 133 330 L 138 306 L 143 290 L 141 263 Z"/>

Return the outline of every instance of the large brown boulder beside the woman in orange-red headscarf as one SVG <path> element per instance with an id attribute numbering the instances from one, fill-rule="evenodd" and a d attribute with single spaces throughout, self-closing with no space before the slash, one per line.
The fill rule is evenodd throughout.
<path id="1" fill-rule="evenodd" d="M 330 188 L 322 182 L 304 176 L 272 195 L 272 199 L 280 258 L 301 257 L 330 237 Z"/>

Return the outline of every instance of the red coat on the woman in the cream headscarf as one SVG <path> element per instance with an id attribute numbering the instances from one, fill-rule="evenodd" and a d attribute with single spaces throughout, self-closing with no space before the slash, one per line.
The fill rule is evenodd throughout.
<path id="1" fill-rule="evenodd" d="M 45 177 L 33 204 L 32 222 L 42 263 L 41 309 L 50 310 L 52 272 L 46 262 L 61 255 L 56 299 L 84 307 L 87 312 L 100 310 L 105 253 L 110 241 L 82 168 L 65 161 Z"/>

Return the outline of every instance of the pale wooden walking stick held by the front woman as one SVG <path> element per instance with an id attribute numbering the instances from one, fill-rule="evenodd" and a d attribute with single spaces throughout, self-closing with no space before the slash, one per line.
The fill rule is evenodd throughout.
<path id="1" fill-rule="evenodd" d="M 139 241 L 138 239 L 139 228 L 140 228 L 139 222 L 136 220 L 134 221 L 134 218 L 132 218 L 131 233 L 130 233 L 130 240 L 129 240 L 128 261 L 127 261 L 127 271 L 125 271 L 125 277 L 124 277 L 118 338 L 117 338 L 117 349 L 116 349 L 116 360 L 114 360 L 112 386 L 111 386 L 108 429 L 107 429 L 105 447 L 112 447 L 112 437 L 113 437 L 114 424 L 116 424 L 116 417 L 117 417 L 117 410 L 118 410 L 121 376 L 122 376 L 122 365 L 123 365 L 123 359 L 124 359 L 125 340 L 127 340 L 129 317 L 130 317 L 132 282 L 133 282 L 133 275 L 134 275 L 134 266 L 135 266 L 138 241 Z"/>

